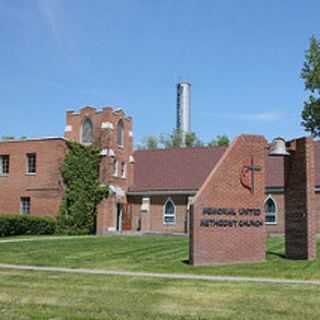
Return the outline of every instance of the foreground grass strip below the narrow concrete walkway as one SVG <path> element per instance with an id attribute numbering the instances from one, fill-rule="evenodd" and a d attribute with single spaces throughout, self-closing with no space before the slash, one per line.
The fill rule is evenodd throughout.
<path id="1" fill-rule="evenodd" d="M 0 270 L 0 319 L 319 319 L 316 286 Z"/>

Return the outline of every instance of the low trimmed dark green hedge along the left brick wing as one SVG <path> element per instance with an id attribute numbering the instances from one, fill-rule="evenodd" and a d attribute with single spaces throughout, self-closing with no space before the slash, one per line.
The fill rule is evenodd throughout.
<path id="1" fill-rule="evenodd" d="M 53 234 L 56 220 L 19 214 L 0 214 L 0 237 Z"/>

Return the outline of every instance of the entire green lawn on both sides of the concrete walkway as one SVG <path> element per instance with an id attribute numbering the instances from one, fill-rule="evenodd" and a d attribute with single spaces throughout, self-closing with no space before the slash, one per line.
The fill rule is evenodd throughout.
<path id="1" fill-rule="evenodd" d="M 289 261 L 282 257 L 282 238 L 268 240 L 266 262 L 197 268 L 186 263 L 188 239 L 184 237 L 38 239 L 12 243 L 0 240 L 0 263 L 320 279 L 319 260 Z M 320 286 L 0 269 L 0 319 L 318 320 Z"/>

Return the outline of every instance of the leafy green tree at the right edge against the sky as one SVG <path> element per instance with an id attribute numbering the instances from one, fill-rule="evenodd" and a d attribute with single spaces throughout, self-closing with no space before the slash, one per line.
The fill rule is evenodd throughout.
<path id="1" fill-rule="evenodd" d="M 304 102 L 301 113 L 302 122 L 307 132 L 314 137 L 320 136 L 320 42 L 312 36 L 310 47 L 305 54 L 305 62 L 301 71 L 305 89 L 310 95 Z"/>

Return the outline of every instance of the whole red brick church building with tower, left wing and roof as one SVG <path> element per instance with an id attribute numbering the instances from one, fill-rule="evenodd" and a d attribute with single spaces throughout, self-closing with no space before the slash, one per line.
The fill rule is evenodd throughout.
<path id="1" fill-rule="evenodd" d="M 68 111 L 64 137 L 0 142 L 0 214 L 57 216 L 67 140 L 101 149 L 100 180 L 110 186 L 98 206 L 97 233 L 133 230 L 188 233 L 189 207 L 227 147 L 133 149 L 132 118 L 121 109 Z M 315 143 L 320 219 L 320 145 Z M 265 212 L 270 233 L 284 232 L 283 158 L 265 154 Z M 318 223 L 320 226 L 320 223 Z"/>

